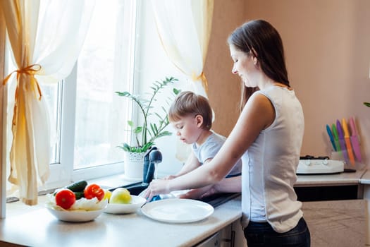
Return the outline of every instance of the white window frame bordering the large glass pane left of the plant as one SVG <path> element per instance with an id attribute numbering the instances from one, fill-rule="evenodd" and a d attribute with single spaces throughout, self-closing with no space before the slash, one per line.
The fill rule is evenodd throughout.
<path id="1" fill-rule="evenodd" d="M 135 54 L 137 54 L 137 27 L 140 23 L 141 1 L 132 1 L 132 28 L 129 30 L 130 39 L 130 92 L 135 92 L 140 85 L 135 82 Z M 76 89 L 77 89 L 77 61 L 70 75 L 61 83 L 61 130 L 60 130 L 60 162 L 50 164 L 50 176 L 40 191 L 65 186 L 71 181 L 97 179 L 99 177 L 111 176 L 123 173 L 123 160 L 113 164 L 101 164 L 96 167 L 74 169 L 74 143 L 75 143 L 75 111 L 76 111 Z M 129 118 L 135 117 L 135 112 L 130 103 Z M 130 136 L 128 136 L 130 138 Z"/>

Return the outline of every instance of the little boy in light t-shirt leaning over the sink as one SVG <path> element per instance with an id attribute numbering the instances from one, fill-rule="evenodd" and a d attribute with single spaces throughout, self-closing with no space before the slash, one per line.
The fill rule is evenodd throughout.
<path id="1" fill-rule="evenodd" d="M 187 174 L 211 161 L 226 138 L 211 131 L 212 109 L 209 101 L 194 92 L 181 92 L 168 111 L 168 120 L 176 130 L 176 135 L 184 143 L 192 145 L 192 152 L 178 174 L 168 176 L 173 179 Z M 242 162 L 239 160 L 226 177 L 239 176 Z"/>

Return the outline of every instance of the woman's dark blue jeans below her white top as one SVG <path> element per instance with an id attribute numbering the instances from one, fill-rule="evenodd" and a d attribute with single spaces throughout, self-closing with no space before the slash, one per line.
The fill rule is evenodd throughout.
<path id="1" fill-rule="evenodd" d="M 311 246 L 309 229 L 303 218 L 290 231 L 280 234 L 272 229 L 269 223 L 249 222 L 244 229 L 248 247 L 254 246 Z"/>

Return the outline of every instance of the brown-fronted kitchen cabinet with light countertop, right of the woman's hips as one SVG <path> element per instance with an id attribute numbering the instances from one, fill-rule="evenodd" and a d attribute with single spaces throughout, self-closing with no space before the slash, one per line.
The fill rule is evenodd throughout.
<path id="1" fill-rule="evenodd" d="M 298 176 L 295 191 L 311 232 L 312 246 L 364 246 L 365 171 Z"/>

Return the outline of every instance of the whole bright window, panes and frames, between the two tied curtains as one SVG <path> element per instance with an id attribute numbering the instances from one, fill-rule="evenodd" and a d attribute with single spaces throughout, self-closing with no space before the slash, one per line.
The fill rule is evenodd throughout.
<path id="1" fill-rule="evenodd" d="M 64 186 L 71 180 L 123 173 L 123 151 L 116 146 L 130 138 L 125 131 L 126 120 L 132 115 L 135 119 L 135 111 L 129 100 L 114 92 L 142 94 L 156 80 L 168 76 L 181 80 L 182 73 L 161 47 L 150 2 L 112 0 L 107 4 L 97 0 L 73 71 L 57 85 L 42 85 L 54 146 L 51 173 L 41 189 Z M 9 90 L 8 100 L 13 97 Z M 159 172 L 166 169 L 168 174 L 174 174 L 182 165 L 175 158 L 174 140 L 175 135 L 158 141 L 166 157 Z M 164 168 L 164 163 L 168 167 Z"/>

